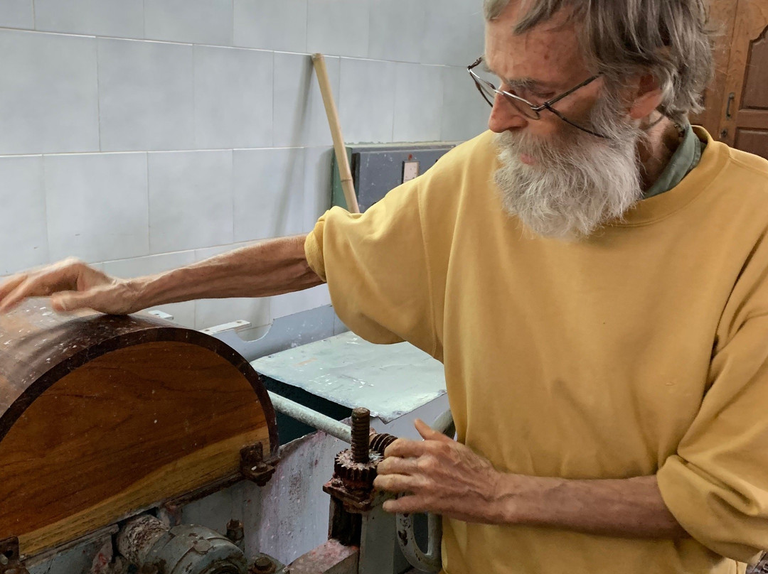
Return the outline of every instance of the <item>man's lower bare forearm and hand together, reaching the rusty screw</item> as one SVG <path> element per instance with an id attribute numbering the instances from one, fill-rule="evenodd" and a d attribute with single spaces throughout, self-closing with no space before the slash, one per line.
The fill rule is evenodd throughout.
<path id="1" fill-rule="evenodd" d="M 598 536 L 687 538 L 655 476 L 569 480 L 502 473 L 472 449 L 416 421 L 423 441 L 398 439 L 374 486 L 407 493 L 393 513 L 430 512 L 465 522 L 551 526 Z"/>

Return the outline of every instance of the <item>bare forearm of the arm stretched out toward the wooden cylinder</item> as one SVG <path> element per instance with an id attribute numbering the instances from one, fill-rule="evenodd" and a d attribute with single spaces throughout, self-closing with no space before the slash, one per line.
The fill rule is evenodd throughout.
<path id="1" fill-rule="evenodd" d="M 187 267 L 132 280 L 141 308 L 190 299 L 268 297 L 323 281 L 304 255 L 306 236 L 267 239 Z"/>

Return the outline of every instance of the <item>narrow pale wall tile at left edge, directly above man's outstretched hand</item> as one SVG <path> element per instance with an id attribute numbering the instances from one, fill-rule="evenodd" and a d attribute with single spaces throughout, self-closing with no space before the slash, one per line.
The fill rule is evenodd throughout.
<path id="1" fill-rule="evenodd" d="M 42 156 L 0 157 L 0 182 L 0 275 L 47 263 Z"/>

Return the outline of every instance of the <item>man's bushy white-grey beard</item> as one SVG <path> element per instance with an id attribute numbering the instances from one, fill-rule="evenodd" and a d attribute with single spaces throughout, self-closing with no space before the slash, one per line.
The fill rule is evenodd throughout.
<path id="1" fill-rule="evenodd" d="M 571 127 L 554 142 L 511 131 L 497 134 L 502 167 L 494 179 L 505 211 L 539 236 L 556 239 L 581 239 L 621 219 L 643 195 L 641 135 L 631 126 L 611 128 L 611 139 Z M 521 153 L 535 164 L 523 163 Z"/>

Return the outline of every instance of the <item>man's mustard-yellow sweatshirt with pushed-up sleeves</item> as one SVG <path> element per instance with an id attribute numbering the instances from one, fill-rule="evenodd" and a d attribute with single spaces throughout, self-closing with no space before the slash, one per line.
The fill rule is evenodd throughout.
<path id="1" fill-rule="evenodd" d="M 656 474 L 692 538 L 445 520 L 449 574 L 743 571 L 768 549 L 768 162 L 717 143 L 581 242 L 502 210 L 492 134 L 306 240 L 339 317 L 445 365 L 458 440 L 498 470 Z"/>

